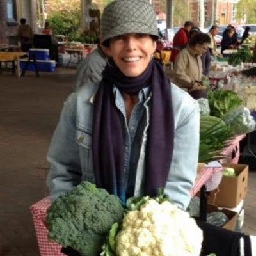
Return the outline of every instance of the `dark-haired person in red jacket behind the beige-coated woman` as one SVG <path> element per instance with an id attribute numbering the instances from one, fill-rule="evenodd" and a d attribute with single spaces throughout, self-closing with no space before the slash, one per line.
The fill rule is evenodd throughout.
<path id="1" fill-rule="evenodd" d="M 183 49 L 189 42 L 189 31 L 194 26 L 193 22 L 186 21 L 183 28 L 173 37 L 173 47 L 170 61 L 174 62 L 175 58 L 179 54 L 180 50 Z"/>

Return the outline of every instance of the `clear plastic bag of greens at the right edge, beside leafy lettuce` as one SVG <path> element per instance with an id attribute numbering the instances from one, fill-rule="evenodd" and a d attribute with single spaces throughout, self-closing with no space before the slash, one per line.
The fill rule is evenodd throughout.
<path id="1" fill-rule="evenodd" d="M 244 134 L 255 130 L 256 123 L 250 110 L 245 106 L 239 106 L 223 116 L 225 124 L 230 125 L 234 134 Z"/>

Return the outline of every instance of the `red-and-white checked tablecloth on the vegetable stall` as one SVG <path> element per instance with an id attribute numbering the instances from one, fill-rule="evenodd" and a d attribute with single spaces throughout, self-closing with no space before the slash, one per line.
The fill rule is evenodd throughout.
<path id="1" fill-rule="evenodd" d="M 230 141 L 228 147 L 223 150 L 223 154 L 230 155 L 234 150 L 236 156 L 231 159 L 232 163 L 237 163 L 239 159 L 239 141 L 245 137 L 245 134 L 237 136 L 234 140 Z M 237 148 L 238 147 L 238 148 Z M 195 185 L 190 191 L 191 197 L 195 196 L 198 191 L 204 186 L 204 184 L 213 177 L 214 174 L 221 172 L 223 168 L 203 168 L 198 172 L 196 177 Z M 216 184 L 218 186 L 218 184 Z M 33 223 L 35 226 L 36 237 L 38 241 L 38 247 L 41 256 L 63 256 L 60 252 L 61 246 L 56 242 L 48 240 L 48 230 L 46 225 L 47 209 L 50 207 L 51 201 L 49 197 L 43 198 L 42 200 L 31 205 L 30 210 L 33 217 Z"/>

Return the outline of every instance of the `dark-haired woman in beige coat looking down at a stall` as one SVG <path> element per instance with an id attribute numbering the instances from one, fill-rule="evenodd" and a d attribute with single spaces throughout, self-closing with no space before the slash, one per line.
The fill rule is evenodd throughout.
<path id="1" fill-rule="evenodd" d="M 201 85 L 203 76 L 201 56 L 207 51 L 210 43 L 209 35 L 198 32 L 191 38 L 187 47 L 180 51 L 172 74 L 173 82 L 180 88 L 189 91 Z"/>

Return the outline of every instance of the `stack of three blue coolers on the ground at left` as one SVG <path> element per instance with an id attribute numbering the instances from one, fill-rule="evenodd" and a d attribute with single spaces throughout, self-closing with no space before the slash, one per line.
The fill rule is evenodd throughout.
<path id="1" fill-rule="evenodd" d="M 54 72 L 56 70 L 56 61 L 50 60 L 49 49 L 29 49 L 29 63 L 28 59 L 21 60 L 20 68 L 35 71 L 34 61 L 38 71 Z"/>

